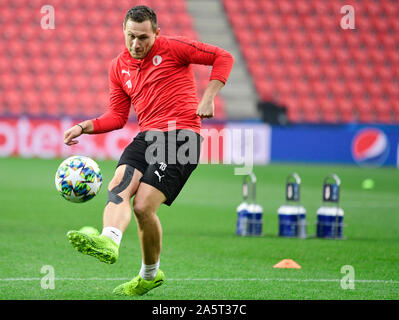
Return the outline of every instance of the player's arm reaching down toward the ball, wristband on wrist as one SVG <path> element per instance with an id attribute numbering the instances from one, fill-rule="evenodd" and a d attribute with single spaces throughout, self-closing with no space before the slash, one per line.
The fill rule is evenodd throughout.
<path id="1" fill-rule="evenodd" d="M 109 108 L 99 118 L 80 122 L 64 132 L 64 143 L 68 146 L 77 144 L 76 140 L 83 133 L 105 133 L 122 128 L 129 117 L 131 100 L 122 85 L 117 73 L 117 59 L 109 68 Z"/>

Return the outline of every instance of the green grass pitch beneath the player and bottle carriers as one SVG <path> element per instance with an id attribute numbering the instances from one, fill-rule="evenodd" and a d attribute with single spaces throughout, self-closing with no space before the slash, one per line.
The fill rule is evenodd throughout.
<path id="1" fill-rule="evenodd" d="M 107 183 L 115 162 L 98 161 L 100 193 L 83 204 L 58 193 L 54 175 L 61 159 L 0 159 L 0 299 L 120 299 L 114 287 L 141 266 L 132 219 L 119 260 L 106 265 L 75 251 L 68 230 L 101 230 Z M 285 179 L 302 179 L 308 238 L 278 237 L 277 210 L 285 201 Z M 161 269 L 166 283 L 134 299 L 398 299 L 399 172 L 394 168 L 272 164 L 256 166 L 257 201 L 264 209 L 263 236 L 235 235 L 242 176 L 234 167 L 200 165 L 171 207 L 159 209 L 163 227 Z M 315 237 L 322 183 L 330 173 L 342 181 L 345 240 Z M 374 189 L 363 190 L 371 178 Z M 276 269 L 293 259 L 301 269 Z M 42 288 L 54 270 L 54 289 Z M 341 268 L 353 267 L 354 289 L 343 289 Z M 127 298 L 131 299 L 131 298 Z"/>

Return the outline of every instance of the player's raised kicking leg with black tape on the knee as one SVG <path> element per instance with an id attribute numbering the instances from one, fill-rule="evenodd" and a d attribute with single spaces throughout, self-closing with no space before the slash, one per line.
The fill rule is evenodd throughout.
<path id="1" fill-rule="evenodd" d="M 142 174 L 129 165 L 121 165 L 108 186 L 108 201 L 103 215 L 101 235 L 93 232 L 69 231 L 69 242 L 83 254 L 102 262 L 114 263 L 118 258 L 122 234 L 131 220 L 130 200 L 138 189 Z"/>

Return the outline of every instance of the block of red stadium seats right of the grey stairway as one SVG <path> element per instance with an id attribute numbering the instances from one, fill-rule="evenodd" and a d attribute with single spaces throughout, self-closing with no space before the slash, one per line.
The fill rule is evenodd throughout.
<path id="1" fill-rule="evenodd" d="M 399 121 L 399 2 L 223 0 L 261 101 L 292 122 Z"/>

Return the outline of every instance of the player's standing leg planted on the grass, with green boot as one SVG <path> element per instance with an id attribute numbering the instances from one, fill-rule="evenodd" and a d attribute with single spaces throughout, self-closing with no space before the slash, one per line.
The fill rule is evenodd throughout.
<path id="1" fill-rule="evenodd" d="M 164 282 L 164 274 L 159 269 L 162 227 L 156 211 L 165 200 L 166 197 L 161 191 L 144 182 L 140 183 L 134 197 L 133 210 L 142 250 L 142 267 L 138 276 L 116 287 L 114 293 L 143 295 Z"/>

